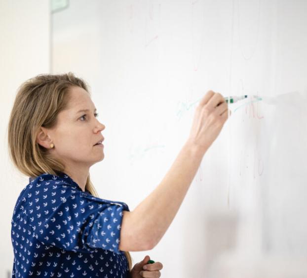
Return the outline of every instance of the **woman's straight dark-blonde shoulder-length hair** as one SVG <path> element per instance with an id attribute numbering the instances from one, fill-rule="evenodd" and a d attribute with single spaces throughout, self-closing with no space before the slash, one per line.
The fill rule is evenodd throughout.
<path id="1" fill-rule="evenodd" d="M 56 175 L 64 172 L 64 164 L 51 157 L 48 149 L 36 142 L 39 127 L 52 128 L 57 123 L 57 115 L 67 107 L 68 92 L 72 86 L 83 88 L 87 93 L 88 85 L 72 72 L 51 75 L 40 74 L 25 81 L 19 88 L 8 123 L 9 156 L 17 169 L 29 177 L 43 173 Z M 90 175 L 85 189 L 99 197 Z M 130 253 L 124 252 L 129 271 L 132 268 Z"/>

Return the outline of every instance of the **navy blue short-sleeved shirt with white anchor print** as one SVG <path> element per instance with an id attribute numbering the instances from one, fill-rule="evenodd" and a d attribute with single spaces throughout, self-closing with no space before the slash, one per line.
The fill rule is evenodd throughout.
<path id="1" fill-rule="evenodd" d="M 63 172 L 29 178 L 12 216 L 13 278 L 128 278 L 118 249 L 123 202 L 94 197 Z"/>

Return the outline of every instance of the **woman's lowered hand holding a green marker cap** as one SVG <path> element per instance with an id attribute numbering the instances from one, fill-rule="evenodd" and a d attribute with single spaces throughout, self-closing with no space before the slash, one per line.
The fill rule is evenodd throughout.
<path id="1" fill-rule="evenodd" d="M 159 270 L 163 268 L 163 265 L 160 262 L 155 262 L 153 264 L 147 264 L 150 260 L 150 256 L 145 256 L 144 260 L 135 264 L 131 269 L 131 278 L 158 278 L 161 276 Z M 146 265 L 147 269 L 145 270 L 143 267 Z"/>

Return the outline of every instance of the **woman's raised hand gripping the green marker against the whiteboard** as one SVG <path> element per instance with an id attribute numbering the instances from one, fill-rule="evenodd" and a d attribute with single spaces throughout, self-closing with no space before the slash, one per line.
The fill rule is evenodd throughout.
<path id="1" fill-rule="evenodd" d="M 205 152 L 218 137 L 227 119 L 228 104 L 222 94 L 208 91 L 196 107 L 188 141 Z"/>

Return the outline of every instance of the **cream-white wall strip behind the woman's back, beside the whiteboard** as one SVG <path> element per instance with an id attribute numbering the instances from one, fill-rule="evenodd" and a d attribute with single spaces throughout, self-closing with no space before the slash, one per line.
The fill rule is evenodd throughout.
<path id="1" fill-rule="evenodd" d="M 7 123 L 17 88 L 50 70 L 50 3 L 48 0 L 0 0 L 0 277 L 11 277 L 11 218 L 29 178 L 17 172 L 8 157 Z"/>

